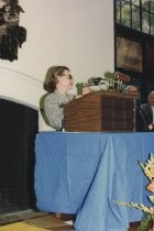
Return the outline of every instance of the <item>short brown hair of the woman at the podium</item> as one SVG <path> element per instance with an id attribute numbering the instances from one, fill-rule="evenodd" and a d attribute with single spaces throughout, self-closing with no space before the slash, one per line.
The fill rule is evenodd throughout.
<path id="1" fill-rule="evenodd" d="M 64 70 L 69 70 L 66 66 L 52 66 L 47 69 L 45 81 L 44 81 L 44 89 L 48 92 L 54 92 L 56 89 L 57 84 L 57 76 L 64 74 Z"/>

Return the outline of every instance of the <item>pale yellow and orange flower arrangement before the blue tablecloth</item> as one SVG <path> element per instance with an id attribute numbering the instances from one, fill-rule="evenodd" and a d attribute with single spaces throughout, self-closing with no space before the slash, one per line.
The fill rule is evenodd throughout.
<path id="1" fill-rule="evenodd" d="M 146 186 L 146 190 L 148 190 L 153 195 L 147 196 L 147 198 L 152 202 L 152 205 L 154 205 L 154 153 L 150 154 L 150 157 L 146 160 L 145 163 L 139 161 L 139 165 L 143 169 L 144 175 L 147 177 L 150 182 L 148 185 Z M 146 207 L 143 204 L 133 204 L 124 201 L 114 201 L 114 202 L 122 206 L 132 207 L 142 210 L 145 216 L 142 218 L 138 230 L 146 230 L 150 224 L 150 221 L 153 221 L 153 229 L 151 231 L 154 231 L 154 206 Z"/>

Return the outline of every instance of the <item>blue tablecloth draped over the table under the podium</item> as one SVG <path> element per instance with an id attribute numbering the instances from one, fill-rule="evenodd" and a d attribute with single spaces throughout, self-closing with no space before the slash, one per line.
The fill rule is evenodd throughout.
<path id="1" fill-rule="evenodd" d="M 113 200 L 148 204 L 138 164 L 154 152 L 154 133 L 41 132 L 35 195 L 42 211 L 76 213 L 78 231 L 127 231 L 142 212 Z"/>

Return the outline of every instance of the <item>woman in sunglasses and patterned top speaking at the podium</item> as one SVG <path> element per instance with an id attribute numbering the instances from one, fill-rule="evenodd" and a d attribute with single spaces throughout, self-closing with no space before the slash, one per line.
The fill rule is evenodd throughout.
<path id="1" fill-rule="evenodd" d="M 73 85 L 74 79 L 68 67 L 53 66 L 47 70 L 44 89 L 48 94 L 44 99 L 44 111 L 50 124 L 57 131 L 64 127 L 63 105 L 75 99 L 74 95 L 68 94 Z M 85 88 L 82 94 L 88 92 L 90 89 Z"/>

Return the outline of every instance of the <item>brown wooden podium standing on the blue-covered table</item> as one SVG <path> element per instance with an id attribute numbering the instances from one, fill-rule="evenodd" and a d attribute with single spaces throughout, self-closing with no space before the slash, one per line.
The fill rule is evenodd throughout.
<path id="1" fill-rule="evenodd" d="M 135 131 L 135 98 L 108 91 L 85 95 L 64 106 L 64 128 L 70 132 Z"/>

